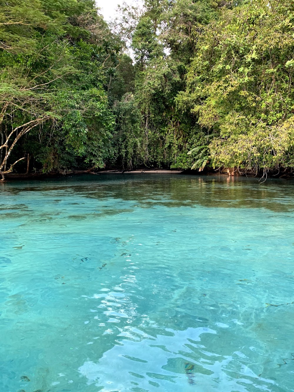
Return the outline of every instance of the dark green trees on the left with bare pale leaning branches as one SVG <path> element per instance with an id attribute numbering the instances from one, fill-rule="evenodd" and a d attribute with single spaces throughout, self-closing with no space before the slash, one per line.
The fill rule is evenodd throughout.
<path id="1" fill-rule="evenodd" d="M 41 148 L 51 156 L 44 171 L 58 167 L 52 142 L 61 138 L 65 150 L 84 155 L 94 166 L 104 165 L 114 125 L 104 88 L 108 83 L 105 63 L 116 62 L 119 50 L 117 42 L 107 41 L 111 37 L 93 2 L 35 1 L 31 8 L 23 0 L 2 4 L 2 179 L 25 159 L 11 161 L 16 144 L 34 129 L 40 141 L 50 135 L 49 144 Z M 28 150 L 29 143 L 25 147 Z"/>

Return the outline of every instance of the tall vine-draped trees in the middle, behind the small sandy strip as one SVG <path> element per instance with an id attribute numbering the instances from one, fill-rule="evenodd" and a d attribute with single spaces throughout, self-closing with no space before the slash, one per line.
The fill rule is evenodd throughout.
<path id="1" fill-rule="evenodd" d="M 193 158 L 187 152 L 195 143 L 203 144 L 204 132 L 189 110 L 178 109 L 176 96 L 185 90 L 201 26 L 214 16 L 213 5 L 192 0 L 146 1 L 135 27 L 134 16 L 130 23 L 125 16 L 136 61 L 134 104 L 141 112 L 145 165 L 189 168 Z"/>

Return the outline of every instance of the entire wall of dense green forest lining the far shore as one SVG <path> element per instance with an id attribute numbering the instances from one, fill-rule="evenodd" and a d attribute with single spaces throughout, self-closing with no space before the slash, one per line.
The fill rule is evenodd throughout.
<path id="1" fill-rule="evenodd" d="M 120 9 L 0 0 L 0 171 L 294 167 L 292 1 Z"/>

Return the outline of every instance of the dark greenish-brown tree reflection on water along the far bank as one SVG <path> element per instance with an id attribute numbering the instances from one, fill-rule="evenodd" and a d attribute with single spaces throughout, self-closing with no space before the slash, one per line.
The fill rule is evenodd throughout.
<path id="1" fill-rule="evenodd" d="M 15 184 L 14 184 L 15 185 Z M 205 207 L 266 208 L 276 212 L 290 211 L 292 183 L 268 179 L 259 183 L 255 178 L 227 176 L 182 176 L 133 174 L 101 174 L 93 180 L 77 176 L 70 180 L 39 182 L 37 186 L 6 187 L 4 192 L 49 192 L 60 197 L 60 192 L 87 198 L 116 198 L 140 202 L 140 207 L 163 204 Z"/>

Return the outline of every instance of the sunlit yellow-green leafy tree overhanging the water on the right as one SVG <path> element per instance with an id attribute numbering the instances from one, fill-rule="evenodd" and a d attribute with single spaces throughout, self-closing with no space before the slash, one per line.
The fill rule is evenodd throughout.
<path id="1" fill-rule="evenodd" d="M 214 166 L 294 165 L 293 3 L 254 0 L 205 28 L 178 103 L 205 129 Z"/>

